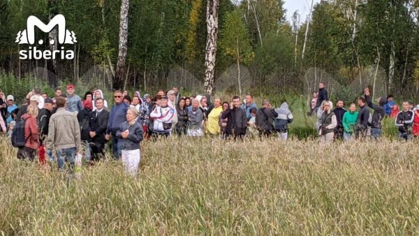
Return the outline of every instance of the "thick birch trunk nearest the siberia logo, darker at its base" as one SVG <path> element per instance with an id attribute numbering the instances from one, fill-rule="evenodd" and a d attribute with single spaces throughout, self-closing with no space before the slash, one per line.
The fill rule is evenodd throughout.
<path id="1" fill-rule="evenodd" d="M 128 40 L 128 6 L 129 0 L 122 0 L 119 22 L 119 52 L 117 70 L 115 71 L 114 89 L 122 89 L 126 77 L 126 41 Z"/>

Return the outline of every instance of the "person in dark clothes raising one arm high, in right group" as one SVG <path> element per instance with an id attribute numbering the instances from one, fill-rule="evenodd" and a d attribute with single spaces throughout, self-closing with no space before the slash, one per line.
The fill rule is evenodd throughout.
<path id="1" fill-rule="evenodd" d="M 375 138 L 375 140 L 378 140 L 379 138 L 381 138 L 381 121 L 383 121 L 385 117 L 384 105 L 385 103 L 387 103 L 387 98 L 378 98 L 378 105 L 375 105 L 374 103 L 372 103 L 371 98 L 369 98 L 369 88 L 366 88 L 365 101 L 367 101 L 367 105 L 369 106 L 369 108 L 372 108 L 374 110 L 371 122 L 371 135 Z"/>

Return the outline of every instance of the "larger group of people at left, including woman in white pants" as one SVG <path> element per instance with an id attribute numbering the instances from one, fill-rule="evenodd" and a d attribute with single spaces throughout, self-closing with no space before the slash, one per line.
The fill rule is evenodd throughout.
<path id="1" fill-rule="evenodd" d="M 17 158 L 38 161 L 57 160 L 59 170 L 73 172 L 75 156 L 82 154 L 89 165 L 100 161 L 107 142 L 115 160 L 122 159 L 131 175 L 138 172 L 140 142 L 170 135 L 199 137 L 210 135 L 222 139 L 242 140 L 249 136 L 268 137 L 278 133 L 287 138 L 287 127 L 293 121 L 288 105 L 274 109 L 269 101 L 258 109 L 253 97 L 244 103 L 234 96 L 230 103 L 210 95 L 184 97 L 178 88 L 154 96 L 135 91 L 113 93 L 114 105 L 108 108 L 103 91 L 87 91 L 82 98 L 75 86 L 68 84 L 66 95 L 56 89 L 54 96 L 33 89 L 18 107 L 12 95 L 0 92 L 0 126 Z M 53 151 L 55 151 L 53 153 Z"/>

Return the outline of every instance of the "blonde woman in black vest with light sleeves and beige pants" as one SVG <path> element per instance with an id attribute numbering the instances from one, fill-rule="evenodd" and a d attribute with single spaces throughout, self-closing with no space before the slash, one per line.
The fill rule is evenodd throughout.
<path id="1" fill-rule="evenodd" d="M 324 103 L 323 114 L 321 115 L 320 128 L 318 135 L 320 135 L 321 143 L 333 142 L 335 136 L 335 128 L 337 126 L 337 119 L 335 112 L 332 112 L 332 102 Z"/>

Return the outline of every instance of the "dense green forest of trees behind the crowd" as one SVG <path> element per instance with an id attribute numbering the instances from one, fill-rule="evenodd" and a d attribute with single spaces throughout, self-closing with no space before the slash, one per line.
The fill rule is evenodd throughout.
<path id="1" fill-rule="evenodd" d="M 53 87 L 61 80 L 94 80 L 104 71 L 104 84 L 112 84 L 121 5 L 121 0 L 0 0 L 1 69 L 19 79 L 45 68 Z M 215 89 L 302 93 L 325 80 L 339 84 L 335 96 L 366 84 L 416 96 L 418 13 L 417 0 L 330 0 L 314 4 L 301 22 L 299 13 L 286 12 L 284 1 L 219 1 Z M 57 14 L 77 36 L 78 43 L 69 46 L 75 59 L 20 60 L 18 51 L 26 46 L 15 38 L 26 29 L 27 17 L 48 22 Z M 199 89 L 205 80 L 206 18 L 207 0 L 130 0 L 124 85 Z M 36 38 L 47 37 L 36 31 Z"/>

